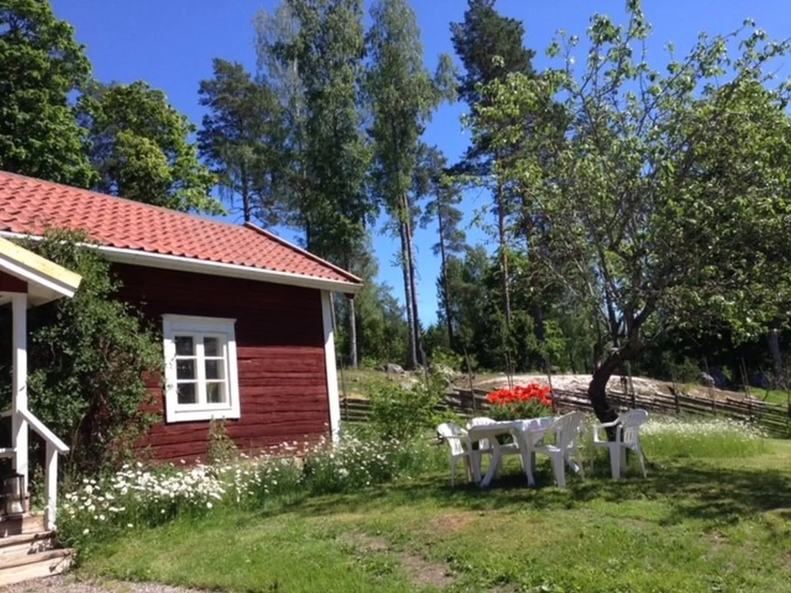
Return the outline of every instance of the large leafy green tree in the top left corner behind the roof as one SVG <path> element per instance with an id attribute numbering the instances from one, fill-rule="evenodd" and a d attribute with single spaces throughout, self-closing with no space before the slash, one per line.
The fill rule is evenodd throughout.
<path id="1" fill-rule="evenodd" d="M 89 187 L 85 130 L 69 94 L 89 77 L 85 48 L 49 2 L 0 3 L 0 169 Z"/>

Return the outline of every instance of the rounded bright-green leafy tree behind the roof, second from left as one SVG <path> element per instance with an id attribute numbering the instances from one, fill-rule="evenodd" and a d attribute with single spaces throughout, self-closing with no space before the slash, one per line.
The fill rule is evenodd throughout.
<path id="1" fill-rule="evenodd" d="M 144 81 L 89 85 L 77 104 L 98 191 L 172 210 L 222 213 L 215 179 L 190 142 L 197 130 Z"/>

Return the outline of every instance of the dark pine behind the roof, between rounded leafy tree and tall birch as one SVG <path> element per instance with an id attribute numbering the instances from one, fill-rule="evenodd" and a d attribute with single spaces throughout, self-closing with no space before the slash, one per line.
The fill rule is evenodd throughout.
<path id="1" fill-rule="evenodd" d="M 266 79 L 254 81 L 239 63 L 214 60 L 214 77 L 201 81 L 200 104 L 209 108 L 198 133 L 201 156 L 218 178 L 221 195 L 238 197 L 245 222 L 280 221 L 286 176 L 283 110 Z"/>

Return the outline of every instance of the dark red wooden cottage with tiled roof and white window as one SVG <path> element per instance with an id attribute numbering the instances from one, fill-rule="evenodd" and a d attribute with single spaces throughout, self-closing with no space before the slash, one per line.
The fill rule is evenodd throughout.
<path id="1" fill-rule="evenodd" d="M 245 450 L 336 434 L 331 293 L 360 278 L 255 225 L 230 225 L 0 172 L 0 236 L 88 234 L 124 300 L 161 323 L 157 459 L 206 453 L 211 418 Z"/>

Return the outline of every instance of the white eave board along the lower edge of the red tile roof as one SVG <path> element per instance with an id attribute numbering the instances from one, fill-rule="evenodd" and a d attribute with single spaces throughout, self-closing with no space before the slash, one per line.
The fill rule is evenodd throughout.
<path id="1" fill-rule="evenodd" d="M 41 239 L 41 236 L 25 235 L 8 231 L 0 231 L 0 236 L 12 239 Z M 314 276 L 293 274 L 291 272 L 278 272 L 277 270 L 264 270 L 263 268 L 252 266 L 240 266 L 235 263 L 210 262 L 206 259 L 195 259 L 180 255 L 165 255 L 139 249 L 122 249 L 120 247 L 108 247 L 106 245 L 91 243 L 85 244 L 85 247 L 93 247 L 111 262 L 127 263 L 132 266 L 180 270 L 184 272 L 193 272 L 195 274 L 210 274 L 228 278 L 244 278 L 247 280 L 304 286 L 309 289 L 331 290 L 333 292 L 347 294 L 356 294 L 362 288 L 361 284 L 355 282 L 329 280 L 327 278 L 316 278 Z"/>

